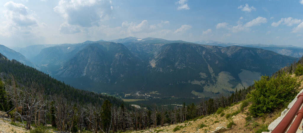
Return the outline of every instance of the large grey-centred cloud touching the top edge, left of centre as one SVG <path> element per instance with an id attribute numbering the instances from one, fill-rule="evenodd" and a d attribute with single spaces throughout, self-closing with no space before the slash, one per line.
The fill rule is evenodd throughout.
<path id="1" fill-rule="evenodd" d="M 60 0 L 54 11 L 70 25 L 99 26 L 112 12 L 110 0 Z"/>

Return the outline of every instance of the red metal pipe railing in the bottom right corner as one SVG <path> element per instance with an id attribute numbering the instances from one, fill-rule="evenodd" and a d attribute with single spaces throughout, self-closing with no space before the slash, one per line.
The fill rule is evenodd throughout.
<path id="1" fill-rule="evenodd" d="M 285 117 L 282 119 L 282 121 L 276 126 L 276 128 L 271 133 L 284 133 L 288 129 L 289 125 L 291 124 L 292 120 L 297 115 L 295 121 L 287 131 L 288 133 L 295 133 L 298 130 L 298 127 L 302 121 L 303 118 L 303 108 L 300 109 L 302 103 L 303 103 L 303 92 L 298 95 L 298 100 L 295 102 L 295 104 L 291 107 L 291 109 L 288 111 L 288 113 L 285 115 Z"/>

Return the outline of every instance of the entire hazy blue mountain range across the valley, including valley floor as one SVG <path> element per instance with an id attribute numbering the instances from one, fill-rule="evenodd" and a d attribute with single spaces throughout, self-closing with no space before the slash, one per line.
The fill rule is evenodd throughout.
<path id="1" fill-rule="evenodd" d="M 128 37 L 14 49 L 41 71 L 76 88 L 122 98 L 228 95 L 301 57 L 296 47 L 241 46 Z M 298 51 L 295 57 L 286 56 L 291 48 Z"/>

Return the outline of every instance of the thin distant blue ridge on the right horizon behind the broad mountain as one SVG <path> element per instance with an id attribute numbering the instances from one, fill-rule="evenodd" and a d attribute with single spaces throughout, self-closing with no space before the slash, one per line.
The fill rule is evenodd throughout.
<path id="1" fill-rule="evenodd" d="M 224 42 L 215 42 L 215 41 L 197 41 L 195 43 L 203 44 L 203 45 L 215 45 L 215 46 L 243 46 L 243 47 L 250 47 L 250 48 L 262 48 L 265 50 L 270 50 L 276 52 L 281 55 L 287 55 L 291 57 L 302 57 L 303 55 L 303 48 L 296 47 L 292 45 L 263 45 L 263 44 L 237 44 L 237 43 L 224 43 Z"/>

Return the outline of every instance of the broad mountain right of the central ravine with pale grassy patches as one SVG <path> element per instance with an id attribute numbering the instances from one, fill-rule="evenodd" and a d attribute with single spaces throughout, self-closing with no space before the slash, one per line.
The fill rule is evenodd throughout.
<path id="1" fill-rule="evenodd" d="M 168 44 L 151 58 L 145 89 L 176 97 L 227 95 L 295 59 L 259 48 Z"/>

